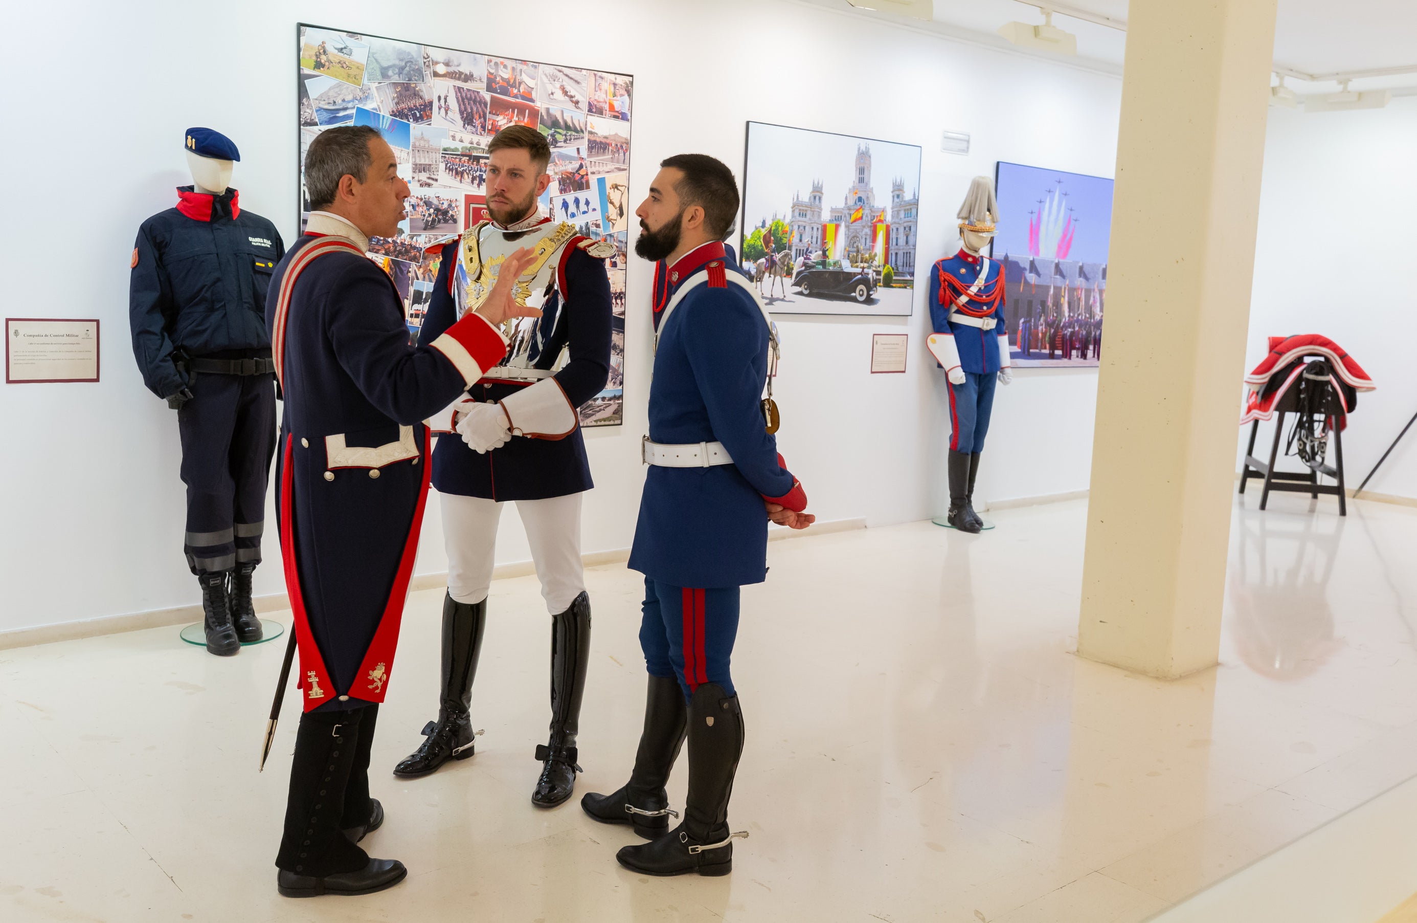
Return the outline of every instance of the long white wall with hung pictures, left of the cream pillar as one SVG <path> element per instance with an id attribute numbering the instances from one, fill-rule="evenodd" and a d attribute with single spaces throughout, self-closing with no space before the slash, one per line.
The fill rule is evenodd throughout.
<path id="1" fill-rule="evenodd" d="M 190 181 L 181 138 L 193 125 L 237 142 L 242 207 L 273 220 L 288 244 L 295 238 L 302 20 L 633 74 L 635 203 L 672 153 L 711 153 L 741 172 L 750 119 L 921 145 L 925 265 L 951 245 L 969 179 L 992 174 L 995 160 L 1111 176 L 1115 159 L 1115 77 L 791 0 L 16 4 L 7 69 L 35 75 L 44 101 L 26 113 L 27 140 L 0 146 L 3 174 L 13 177 L 0 223 L 11 267 L 6 315 L 99 318 L 103 354 L 99 384 L 0 388 L 0 631 L 197 601 L 181 554 L 176 415 L 143 388 L 129 347 L 129 254 L 143 218 L 174 204 L 173 187 Z M 972 135 L 969 156 L 939 150 L 944 129 Z M 1362 208 L 1343 214 L 1365 217 Z M 1370 244 L 1352 240 L 1353 258 Z M 1346 276 L 1338 254 L 1333 262 Z M 649 264 L 633 261 L 625 425 L 587 434 L 598 485 L 585 505 L 587 552 L 626 547 L 633 535 L 649 289 Z M 779 441 L 822 519 L 886 525 L 937 512 L 947 414 L 942 376 L 924 347 L 924 299 L 921 285 L 911 318 L 779 320 Z M 910 333 L 905 374 L 869 374 L 876 332 Z M 1366 359 L 1357 342 L 1339 339 Z M 1000 388 L 979 495 L 1084 489 L 1095 381 L 1094 371 L 1030 371 Z M 265 553 L 256 593 L 281 593 L 273 529 Z M 527 557 L 509 513 L 497 559 Z M 418 570 L 444 570 L 436 496 Z"/>

